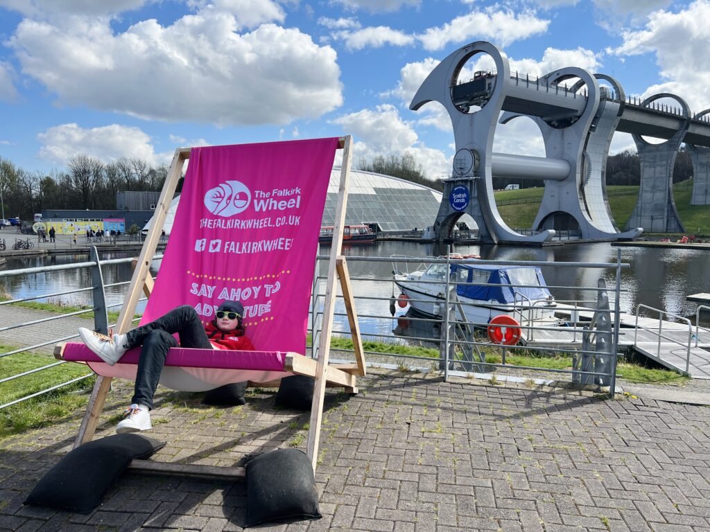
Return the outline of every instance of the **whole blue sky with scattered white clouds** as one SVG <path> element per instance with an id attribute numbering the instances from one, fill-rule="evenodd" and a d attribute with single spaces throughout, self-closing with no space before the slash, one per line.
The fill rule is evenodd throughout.
<path id="1" fill-rule="evenodd" d="M 436 178 L 450 123 L 408 106 L 457 48 L 489 40 L 513 71 L 584 67 L 697 113 L 709 20 L 710 0 L 0 0 L 0 156 L 30 172 L 77 154 L 157 165 L 179 146 L 350 133 L 356 160 L 409 152 Z M 544 155 L 530 121 L 501 126 L 494 150 Z"/>

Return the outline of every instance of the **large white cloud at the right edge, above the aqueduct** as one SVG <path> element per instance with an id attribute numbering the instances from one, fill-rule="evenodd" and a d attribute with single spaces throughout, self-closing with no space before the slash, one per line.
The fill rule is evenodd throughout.
<path id="1" fill-rule="evenodd" d="M 682 11 L 656 11 L 644 28 L 623 33 L 623 43 L 611 50 L 620 56 L 654 53 L 662 82 L 643 97 L 672 92 L 691 109 L 705 109 L 710 101 L 710 1 L 697 0 Z"/>

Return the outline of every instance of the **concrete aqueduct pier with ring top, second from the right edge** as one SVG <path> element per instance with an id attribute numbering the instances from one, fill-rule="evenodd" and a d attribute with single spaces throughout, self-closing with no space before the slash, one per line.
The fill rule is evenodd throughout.
<path id="1" fill-rule="evenodd" d="M 641 106 L 648 106 L 661 98 L 676 100 L 686 120 L 684 126 L 664 143 L 651 144 L 640 135 L 633 135 L 641 162 L 641 184 L 636 206 L 626 227 L 643 227 L 648 233 L 684 233 L 685 228 L 673 200 L 673 167 L 690 126 L 691 113 L 684 99 L 667 92 L 648 97 Z"/>

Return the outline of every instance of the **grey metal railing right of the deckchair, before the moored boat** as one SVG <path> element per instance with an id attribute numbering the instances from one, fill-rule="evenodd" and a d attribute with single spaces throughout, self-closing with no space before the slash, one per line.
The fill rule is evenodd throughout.
<path id="1" fill-rule="evenodd" d="M 319 259 L 326 259 L 327 257 L 319 257 Z M 357 270 L 357 265 L 359 262 L 396 262 L 395 264 L 395 269 L 394 272 L 398 272 L 400 270 L 400 265 L 403 270 L 406 270 L 409 272 L 410 270 L 413 270 L 410 265 L 412 264 L 417 264 L 420 267 L 418 267 L 414 271 L 420 271 L 422 270 L 421 265 L 432 265 L 432 264 L 442 264 L 446 265 L 446 271 L 451 271 L 450 267 L 452 264 L 456 263 L 462 263 L 465 264 L 466 262 L 471 262 L 471 260 L 457 260 L 457 259 L 452 259 L 450 256 L 447 257 L 427 257 L 427 258 L 422 258 L 422 257 L 404 257 L 404 256 L 398 256 L 398 257 L 347 257 L 347 260 L 349 262 L 349 269 L 351 271 L 351 282 L 354 285 L 357 285 L 359 282 L 393 282 L 393 279 L 391 277 L 388 278 L 381 278 L 381 277 L 355 277 L 353 275 L 353 272 Z M 491 343 L 491 341 L 486 340 L 486 339 L 474 339 L 474 338 L 467 338 L 467 333 L 470 328 L 477 328 L 477 329 L 486 329 L 488 326 L 487 321 L 475 321 L 471 319 L 470 317 L 463 317 L 465 316 L 465 310 L 466 308 L 471 308 L 473 306 L 476 306 L 473 302 L 471 301 L 461 301 L 460 297 L 457 297 L 457 288 L 461 286 L 471 286 L 471 285 L 476 285 L 476 286 L 491 286 L 491 284 L 488 283 L 466 283 L 466 282 L 459 282 L 455 279 L 450 278 L 448 275 L 442 277 L 442 279 L 431 279 L 431 280 L 418 280 L 417 284 L 422 284 L 425 286 L 434 286 L 438 285 L 440 290 L 440 296 L 436 297 L 434 299 L 432 298 L 425 298 L 425 297 L 409 297 L 406 302 L 410 305 L 410 308 L 416 308 L 417 306 L 422 306 L 422 304 L 427 304 L 427 306 L 430 305 L 430 311 L 428 315 L 425 314 L 405 314 L 405 315 L 400 315 L 400 316 L 386 316 L 382 314 L 364 314 L 361 311 L 358 312 L 358 316 L 361 320 L 396 320 L 399 321 L 407 321 L 412 324 L 417 324 L 417 326 L 421 326 L 423 324 L 429 324 L 433 325 L 436 328 L 439 328 L 439 334 L 436 334 L 434 336 L 422 336 L 421 333 L 418 333 L 417 331 L 413 331 L 411 333 L 398 333 L 397 338 L 403 341 L 406 341 L 408 343 L 414 343 L 415 345 L 419 343 L 427 343 L 432 345 L 433 347 L 436 347 L 438 345 L 439 347 L 439 358 L 432 360 L 428 359 L 429 362 L 436 362 L 438 370 L 442 372 L 442 375 L 444 379 L 447 379 L 449 376 L 449 370 L 453 370 L 454 367 L 457 367 L 461 370 L 464 370 L 465 372 L 496 372 L 498 369 L 512 369 L 512 370 L 530 370 L 532 372 L 550 372 L 550 373 L 560 373 L 560 374 L 569 374 L 572 377 L 574 376 L 579 376 L 579 375 L 586 375 L 588 377 L 595 377 L 597 381 L 603 385 L 608 385 L 610 389 L 610 393 L 613 394 L 615 387 L 616 387 L 616 360 L 617 360 L 617 355 L 618 353 L 618 324 L 620 323 L 619 315 L 621 313 L 619 309 L 619 301 L 620 297 L 619 294 L 621 292 L 625 292 L 625 290 L 621 289 L 621 270 L 623 267 L 628 267 L 628 265 L 624 265 L 621 263 L 621 253 L 617 254 L 617 262 L 614 263 L 579 263 L 579 262 L 537 262 L 537 261 L 492 261 L 492 260 L 475 260 L 476 263 L 479 264 L 485 264 L 485 265 L 518 265 L 518 266 L 536 266 L 536 267 L 552 267 L 552 268 L 575 268 L 575 269 L 584 269 L 584 268 L 591 268 L 591 269 L 613 269 L 616 270 L 616 283 L 615 286 L 611 289 L 608 289 L 608 292 L 611 293 L 613 296 L 613 309 L 611 310 L 611 314 L 615 316 L 615 319 L 613 320 L 613 363 L 611 365 L 611 369 L 608 371 L 599 371 L 599 370 L 594 370 L 594 371 L 584 371 L 580 370 L 577 367 L 572 367 L 572 369 L 550 369 L 548 367 L 542 367 L 542 366 L 535 366 L 535 365 L 530 365 L 530 366 L 515 366 L 515 365 L 510 365 L 506 361 L 506 353 L 515 353 L 516 351 L 526 351 L 528 354 L 532 354 L 534 356 L 545 356 L 545 355 L 552 355 L 552 356 L 559 356 L 559 355 L 569 355 L 572 351 L 576 353 L 577 355 L 591 355 L 594 357 L 594 355 L 600 355 L 600 353 L 596 353 L 594 350 L 589 350 L 589 351 L 584 351 L 580 350 L 579 347 L 577 346 L 565 346 L 564 348 L 555 348 L 555 347 L 550 347 L 550 346 L 545 346 L 542 345 L 541 343 L 537 343 L 535 345 L 497 345 Z M 312 316 L 318 316 L 322 313 L 322 304 L 319 303 L 319 300 L 324 297 L 324 294 L 322 292 L 322 289 L 317 289 L 317 285 L 322 285 L 322 282 L 324 282 L 325 277 L 323 276 L 317 276 L 315 279 L 315 284 L 314 284 L 314 291 L 313 291 L 313 298 L 312 298 L 312 311 L 311 314 Z M 496 284 L 496 286 L 500 286 L 499 284 Z M 515 284 L 503 284 L 502 286 L 506 287 L 530 287 L 530 285 L 515 285 Z M 582 289 L 582 290 L 589 290 L 592 292 L 599 292 L 599 291 L 604 291 L 607 292 L 607 289 L 599 289 L 598 287 L 556 287 L 554 285 L 549 286 L 551 291 L 554 291 L 555 289 Z M 437 291 L 438 292 L 438 291 Z M 391 305 L 394 307 L 395 304 L 395 297 L 393 294 L 393 297 L 387 298 L 387 297 L 373 297 L 371 295 L 366 295 L 363 292 L 360 292 L 359 290 L 355 289 L 354 290 L 356 295 L 356 304 L 359 301 L 386 301 L 387 299 L 390 299 Z M 587 309 L 587 310 L 594 310 L 594 309 Z M 339 318 L 344 318 L 345 314 L 343 312 L 336 312 L 336 315 L 339 316 Z M 312 323 L 317 323 L 317 319 L 312 321 Z M 344 335 L 347 336 L 349 335 L 349 330 L 346 328 L 346 323 L 344 319 L 342 319 L 342 325 L 343 328 L 342 330 L 334 330 L 333 335 L 338 336 L 338 335 Z M 399 326 L 398 326 L 399 327 Z M 553 334 L 559 333 L 559 334 L 568 334 L 572 335 L 572 338 L 574 340 L 577 340 L 577 338 L 581 338 L 582 333 L 584 333 L 586 328 L 584 326 L 581 326 L 580 323 L 571 323 L 569 326 L 564 326 L 564 327 L 558 327 L 555 326 L 555 323 L 520 323 L 520 329 L 524 331 L 552 331 Z M 395 329 L 396 330 L 396 329 Z M 391 340 L 391 335 L 389 334 L 383 334 L 383 333 L 373 333 L 373 332 L 366 332 L 363 330 L 363 327 L 361 326 L 361 336 L 363 338 L 369 338 L 371 340 L 378 340 L 378 341 L 383 341 L 386 339 Z M 317 345 L 317 340 L 314 338 L 313 341 L 314 345 Z M 339 351 L 344 351 L 348 352 L 349 350 L 339 350 Z M 493 351 L 500 351 L 501 352 L 501 363 L 494 363 L 494 362 L 486 362 L 485 354 L 486 351 L 488 353 L 492 353 Z M 383 356 L 386 358 L 394 358 L 395 360 L 401 360 L 401 359 L 408 359 L 408 360 L 417 360 L 420 363 L 427 362 L 427 359 L 422 359 L 420 355 L 408 355 L 406 353 L 380 353 L 377 351 L 367 351 L 368 355 L 374 355 L 374 356 Z M 452 353 L 456 353 L 455 356 L 452 356 Z M 578 357 L 579 358 L 579 357 Z"/>

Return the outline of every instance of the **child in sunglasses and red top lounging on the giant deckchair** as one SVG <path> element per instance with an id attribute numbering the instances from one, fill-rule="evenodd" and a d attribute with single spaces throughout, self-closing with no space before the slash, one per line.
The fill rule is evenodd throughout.
<path id="1" fill-rule="evenodd" d="M 131 406 L 124 411 L 124 419 L 116 427 L 116 432 L 151 429 L 151 414 L 148 412 L 153 408 L 153 394 L 158 387 L 160 372 L 163 371 L 168 350 L 178 347 L 178 341 L 173 334 L 178 333 L 180 346 L 183 348 L 254 350 L 241 324 L 244 306 L 239 301 L 224 301 L 215 315 L 217 317 L 214 321 L 202 326 L 195 309 L 184 305 L 151 323 L 126 334 L 116 334 L 112 338 L 84 327 L 79 329 L 79 336 L 87 347 L 111 366 L 129 349 L 142 346 L 135 393 Z"/>

